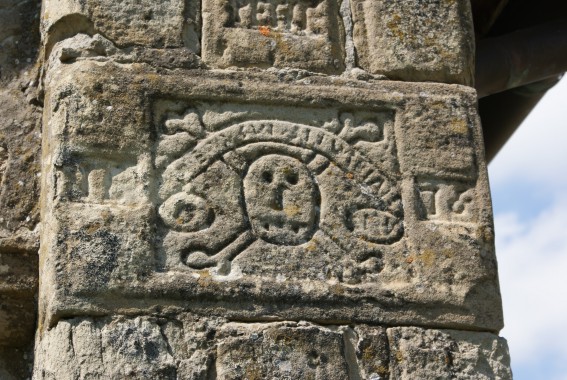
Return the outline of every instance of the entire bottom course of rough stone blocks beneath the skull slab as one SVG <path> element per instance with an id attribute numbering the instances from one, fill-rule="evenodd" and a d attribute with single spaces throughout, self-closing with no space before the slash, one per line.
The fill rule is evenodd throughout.
<path id="1" fill-rule="evenodd" d="M 46 331 L 34 379 L 511 379 L 506 341 L 416 327 L 74 318 Z"/>

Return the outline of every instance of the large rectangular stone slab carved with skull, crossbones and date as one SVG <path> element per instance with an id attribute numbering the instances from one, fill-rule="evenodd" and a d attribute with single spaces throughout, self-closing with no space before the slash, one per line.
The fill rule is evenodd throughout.
<path id="1" fill-rule="evenodd" d="M 159 305 L 502 326 L 474 91 L 134 67 L 47 78 L 47 325 Z"/>

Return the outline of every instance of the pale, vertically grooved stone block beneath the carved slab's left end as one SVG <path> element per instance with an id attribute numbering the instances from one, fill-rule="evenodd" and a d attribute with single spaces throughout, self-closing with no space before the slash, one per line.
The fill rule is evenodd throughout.
<path id="1" fill-rule="evenodd" d="M 153 318 L 61 321 L 45 332 L 36 355 L 34 379 L 177 378 L 167 339 Z"/>

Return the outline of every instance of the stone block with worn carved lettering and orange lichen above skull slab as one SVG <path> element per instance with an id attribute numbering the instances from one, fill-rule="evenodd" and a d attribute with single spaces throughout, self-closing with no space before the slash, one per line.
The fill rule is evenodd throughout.
<path id="1" fill-rule="evenodd" d="M 338 0 L 203 2 L 203 59 L 214 67 L 344 69 Z"/>

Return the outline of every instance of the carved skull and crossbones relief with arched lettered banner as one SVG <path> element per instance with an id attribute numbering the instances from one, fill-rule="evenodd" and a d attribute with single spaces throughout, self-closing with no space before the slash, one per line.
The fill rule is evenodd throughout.
<path id="1" fill-rule="evenodd" d="M 170 128 L 185 119 L 187 113 L 167 116 L 169 134 L 161 140 L 187 133 Z M 197 128 L 203 137 L 179 158 L 157 155 L 168 163 L 158 210 L 168 257 L 228 274 L 243 252 L 281 247 L 309 254 L 323 239 L 355 262 L 379 261 L 383 247 L 403 235 L 399 189 L 354 146 L 384 143 L 383 125 L 342 119 L 334 132 L 278 120 L 228 123 L 207 133 Z M 355 119 L 362 121 L 353 125 Z"/>

